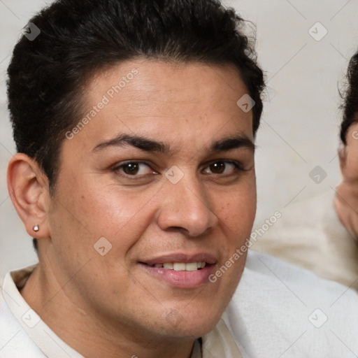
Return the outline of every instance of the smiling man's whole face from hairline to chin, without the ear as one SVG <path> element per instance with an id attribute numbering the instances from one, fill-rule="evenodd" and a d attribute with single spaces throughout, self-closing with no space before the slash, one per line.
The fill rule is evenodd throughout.
<path id="1" fill-rule="evenodd" d="M 83 117 L 96 114 L 62 145 L 43 248 L 69 299 L 107 328 L 201 336 L 222 315 L 245 255 L 208 277 L 256 210 L 252 111 L 236 105 L 247 92 L 236 70 L 199 63 L 136 60 L 90 81 Z"/>

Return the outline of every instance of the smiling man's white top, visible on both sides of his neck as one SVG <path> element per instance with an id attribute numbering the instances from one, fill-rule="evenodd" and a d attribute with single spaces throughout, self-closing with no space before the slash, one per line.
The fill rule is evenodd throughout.
<path id="1" fill-rule="evenodd" d="M 44 322 L 30 329 L 21 320 L 28 309 L 6 275 L 0 296 L 1 358 L 81 357 Z M 214 338 L 230 342 L 234 336 L 243 358 L 350 358 L 358 354 L 358 294 L 257 252 L 249 252 L 243 278 L 222 319 Z M 215 340 L 210 345 L 206 339 L 203 357 L 240 357 L 230 350 L 231 343 L 215 355 Z"/>

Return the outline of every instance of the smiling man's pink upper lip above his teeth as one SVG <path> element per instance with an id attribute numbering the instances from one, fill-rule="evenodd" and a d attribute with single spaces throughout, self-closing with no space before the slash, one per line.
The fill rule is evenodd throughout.
<path id="1" fill-rule="evenodd" d="M 217 259 L 208 252 L 196 252 L 193 254 L 177 252 L 143 259 L 141 262 L 148 265 L 165 264 L 166 262 L 184 262 L 185 264 L 189 262 L 206 262 L 207 264 L 216 264 Z"/>

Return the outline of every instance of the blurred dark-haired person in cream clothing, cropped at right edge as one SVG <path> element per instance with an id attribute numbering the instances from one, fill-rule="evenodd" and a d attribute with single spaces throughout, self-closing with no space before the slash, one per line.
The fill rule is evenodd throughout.
<path id="1" fill-rule="evenodd" d="M 336 189 L 280 210 L 280 220 L 252 249 L 358 289 L 358 52 L 347 78 L 338 150 L 343 180 Z"/>

